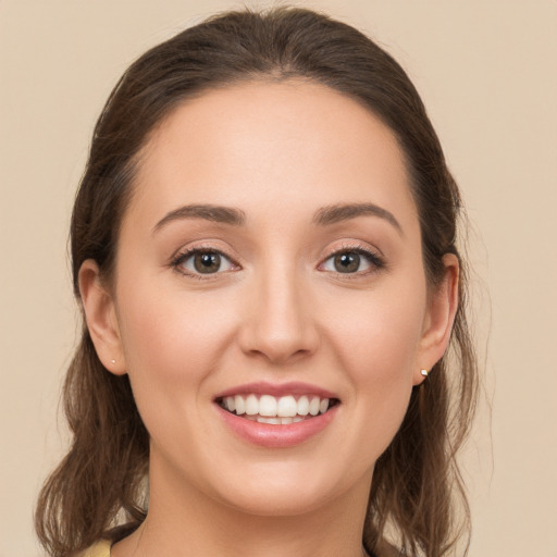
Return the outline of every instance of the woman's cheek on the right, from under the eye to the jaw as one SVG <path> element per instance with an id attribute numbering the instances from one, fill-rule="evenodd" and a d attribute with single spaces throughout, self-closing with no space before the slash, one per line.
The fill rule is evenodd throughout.
<path id="1" fill-rule="evenodd" d="M 330 338 L 347 370 L 362 425 L 355 438 L 374 451 L 373 459 L 396 434 L 412 392 L 425 309 L 425 287 L 414 286 L 420 295 L 412 286 L 389 296 L 369 293 L 354 302 L 345 298 L 343 319 L 330 318 L 335 323 Z"/>

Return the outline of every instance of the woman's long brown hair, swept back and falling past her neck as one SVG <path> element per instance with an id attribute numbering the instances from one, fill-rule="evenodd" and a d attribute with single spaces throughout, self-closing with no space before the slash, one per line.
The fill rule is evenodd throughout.
<path id="1" fill-rule="evenodd" d="M 97 261 L 104 278 L 112 275 L 137 154 L 162 119 L 211 88 L 290 77 L 351 97 L 396 134 L 410 171 L 430 286 L 443 277 L 445 253 L 460 260 L 460 304 L 448 355 L 414 387 L 398 433 L 376 462 L 364 529 L 371 552 L 387 536 L 404 555 L 442 557 L 469 530 L 455 455 L 476 396 L 466 262 L 456 246 L 461 201 L 416 88 L 397 62 L 360 32 L 304 9 L 244 10 L 214 16 L 139 58 L 99 117 L 75 200 L 75 295 L 79 299 L 77 274 L 86 259 Z M 52 557 L 69 556 L 107 535 L 122 536 L 146 517 L 148 434 L 127 376 L 103 368 L 85 325 L 63 397 L 73 443 L 36 509 L 39 540 Z M 111 531 L 122 523 L 125 531 Z"/>

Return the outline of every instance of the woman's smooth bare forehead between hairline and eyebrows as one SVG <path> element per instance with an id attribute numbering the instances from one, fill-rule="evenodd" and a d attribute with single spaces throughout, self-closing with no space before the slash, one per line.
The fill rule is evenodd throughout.
<path id="1" fill-rule="evenodd" d="M 177 107 L 141 152 L 129 211 L 214 202 L 249 219 L 339 201 L 416 213 L 393 132 L 351 98 L 297 79 L 214 89 Z"/>

